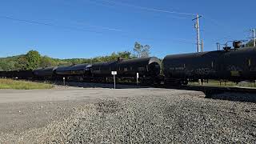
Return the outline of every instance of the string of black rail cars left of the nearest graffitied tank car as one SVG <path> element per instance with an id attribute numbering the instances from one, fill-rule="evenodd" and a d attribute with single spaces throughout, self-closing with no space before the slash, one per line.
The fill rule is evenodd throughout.
<path id="1" fill-rule="evenodd" d="M 37 70 L 0 71 L 2 78 L 30 78 L 39 80 L 82 80 L 85 82 L 111 82 L 112 71 L 122 82 L 157 83 L 160 77 L 161 62 L 156 57 L 118 59 L 114 62 L 98 62 L 74 66 L 46 67 Z"/>

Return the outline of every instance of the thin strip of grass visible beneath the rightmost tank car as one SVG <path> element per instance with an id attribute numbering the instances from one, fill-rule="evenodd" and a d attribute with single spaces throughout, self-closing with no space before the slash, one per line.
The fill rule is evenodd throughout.
<path id="1" fill-rule="evenodd" d="M 198 86 L 198 82 L 190 82 L 190 86 Z M 254 82 L 219 82 L 214 80 L 209 80 L 207 83 L 204 82 L 204 86 L 226 86 L 226 87 L 256 87 L 256 84 Z"/>

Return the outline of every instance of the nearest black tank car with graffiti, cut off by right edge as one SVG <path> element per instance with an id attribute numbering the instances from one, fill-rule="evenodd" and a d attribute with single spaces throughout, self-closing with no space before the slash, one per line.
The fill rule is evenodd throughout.
<path id="1" fill-rule="evenodd" d="M 195 79 L 254 80 L 255 54 L 255 47 L 244 47 L 167 55 L 163 59 L 165 82 L 187 84 Z"/>

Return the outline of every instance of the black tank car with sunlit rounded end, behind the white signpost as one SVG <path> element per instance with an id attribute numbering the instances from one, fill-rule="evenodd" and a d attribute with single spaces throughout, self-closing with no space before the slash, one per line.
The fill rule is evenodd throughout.
<path id="1" fill-rule="evenodd" d="M 137 73 L 139 80 L 145 82 L 156 82 L 160 74 L 161 62 L 156 57 L 134 58 L 129 60 L 120 60 L 114 62 L 99 62 L 91 66 L 91 74 L 95 79 L 112 78 L 111 71 L 117 71 L 117 78 L 130 78 L 134 80 Z M 105 79 L 106 78 L 106 79 Z"/>

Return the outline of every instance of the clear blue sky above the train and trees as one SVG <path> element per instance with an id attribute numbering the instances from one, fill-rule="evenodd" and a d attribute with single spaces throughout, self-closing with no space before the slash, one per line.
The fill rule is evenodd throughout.
<path id="1" fill-rule="evenodd" d="M 196 52 L 190 14 L 202 14 L 205 50 L 216 50 L 216 42 L 251 36 L 255 6 L 254 0 L 6 0 L 0 5 L 0 57 L 33 49 L 54 58 L 93 58 L 132 51 L 136 41 L 158 58 Z"/>

